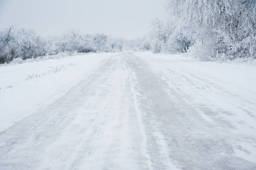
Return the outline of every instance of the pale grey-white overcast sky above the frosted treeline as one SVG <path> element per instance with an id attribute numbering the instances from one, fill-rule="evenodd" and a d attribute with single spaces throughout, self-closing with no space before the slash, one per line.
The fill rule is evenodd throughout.
<path id="1" fill-rule="evenodd" d="M 0 29 L 9 25 L 39 35 L 106 33 L 133 39 L 144 36 L 154 18 L 165 18 L 165 0 L 0 0 Z"/>

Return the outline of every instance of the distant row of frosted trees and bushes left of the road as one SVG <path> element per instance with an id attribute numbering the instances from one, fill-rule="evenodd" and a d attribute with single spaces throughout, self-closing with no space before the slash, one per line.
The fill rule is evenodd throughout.
<path id="1" fill-rule="evenodd" d="M 35 31 L 14 26 L 0 31 L 0 63 L 14 58 L 36 58 L 61 52 L 121 52 L 122 50 L 149 50 L 144 39 L 125 40 L 104 34 L 86 34 L 70 29 L 62 36 L 42 38 Z"/>

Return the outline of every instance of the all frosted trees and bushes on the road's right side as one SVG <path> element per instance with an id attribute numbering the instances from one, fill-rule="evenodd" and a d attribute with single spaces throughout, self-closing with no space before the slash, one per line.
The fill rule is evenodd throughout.
<path id="1" fill-rule="evenodd" d="M 154 22 L 154 53 L 189 52 L 206 61 L 256 58 L 256 1 L 167 0 Z"/>

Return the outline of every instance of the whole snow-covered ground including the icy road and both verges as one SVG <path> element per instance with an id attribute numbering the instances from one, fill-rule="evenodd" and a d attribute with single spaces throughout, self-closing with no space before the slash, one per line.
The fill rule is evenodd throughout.
<path id="1" fill-rule="evenodd" d="M 0 67 L 0 169 L 256 169 L 256 67 L 108 53 Z"/>

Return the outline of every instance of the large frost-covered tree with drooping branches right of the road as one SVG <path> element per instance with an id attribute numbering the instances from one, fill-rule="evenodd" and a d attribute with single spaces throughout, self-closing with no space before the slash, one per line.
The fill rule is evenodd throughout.
<path id="1" fill-rule="evenodd" d="M 195 32 L 197 42 L 212 46 L 205 48 L 212 59 L 256 57 L 256 1 L 167 0 L 166 7 Z"/>

